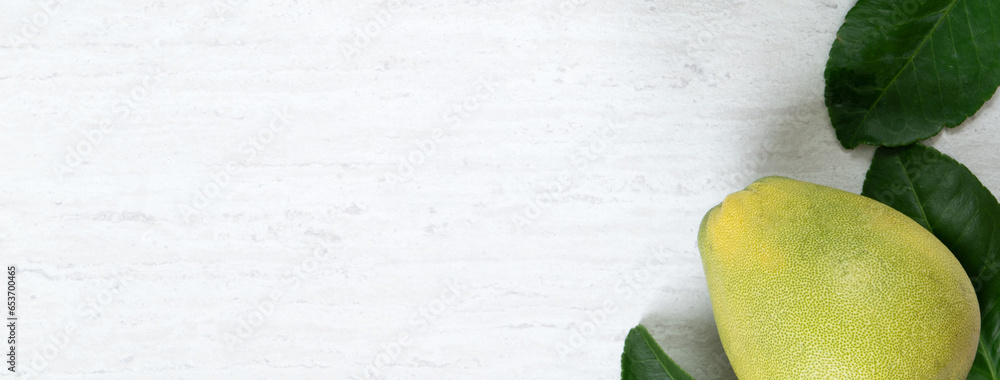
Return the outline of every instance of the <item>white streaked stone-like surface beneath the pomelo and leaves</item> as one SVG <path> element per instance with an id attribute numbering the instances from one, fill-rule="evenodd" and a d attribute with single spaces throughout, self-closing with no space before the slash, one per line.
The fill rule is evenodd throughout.
<path id="1" fill-rule="evenodd" d="M 698 223 L 861 190 L 822 99 L 852 4 L 6 1 L 19 374 L 615 379 L 643 322 L 734 379 Z M 930 141 L 994 193 L 998 119 Z"/>

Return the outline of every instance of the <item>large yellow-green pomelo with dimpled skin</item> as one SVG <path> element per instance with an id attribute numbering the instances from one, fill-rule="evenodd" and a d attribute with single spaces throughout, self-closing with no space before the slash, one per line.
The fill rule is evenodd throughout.
<path id="1" fill-rule="evenodd" d="M 969 277 L 889 206 L 765 177 L 705 215 L 698 248 L 741 380 L 964 380 L 972 367 Z"/>

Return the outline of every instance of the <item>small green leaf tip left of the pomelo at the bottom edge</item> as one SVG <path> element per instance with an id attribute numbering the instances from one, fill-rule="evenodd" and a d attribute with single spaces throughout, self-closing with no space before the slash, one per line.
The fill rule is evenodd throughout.
<path id="1" fill-rule="evenodd" d="M 670 360 L 646 326 L 638 325 L 625 338 L 622 380 L 694 380 Z"/>

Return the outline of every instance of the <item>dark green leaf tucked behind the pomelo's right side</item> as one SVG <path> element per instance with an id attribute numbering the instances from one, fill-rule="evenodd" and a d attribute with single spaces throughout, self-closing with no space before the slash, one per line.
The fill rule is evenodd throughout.
<path id="1" fill-rule="evenodd" d="M 916 144 L 879 148 L 861 195 L 930 230 L 958 258 L 979 299 L 982 333 L 969 379 L 1000 380 L 1000 203 L 964 165 Z"/>

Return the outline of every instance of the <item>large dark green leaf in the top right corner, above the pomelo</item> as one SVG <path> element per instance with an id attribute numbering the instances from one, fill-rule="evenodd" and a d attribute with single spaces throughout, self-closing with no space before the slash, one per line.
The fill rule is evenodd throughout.
<path id="1" fill-rule="evenodd" d="M 976 113 L 1000 85 L 1000 3 L 859 0 L 824 76 L 845 148 L 934 136 Z"/>

